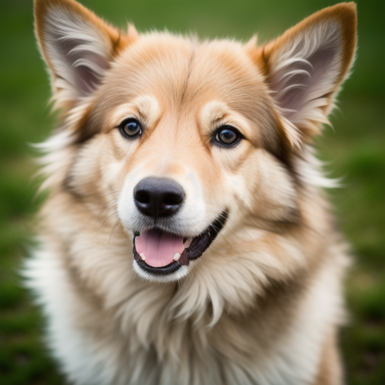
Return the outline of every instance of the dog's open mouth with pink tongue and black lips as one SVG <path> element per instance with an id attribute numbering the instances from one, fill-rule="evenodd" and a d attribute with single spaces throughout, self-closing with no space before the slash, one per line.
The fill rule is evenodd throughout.
<path id="1" fill-rule="evenodd" d="M 205 252 L 223 228 L 226 219 L 227 213 L 223 212 L 195 238 L 183 238 L 158 229 L 135 234 L 134 259 L 141 269 L 151 275 L 172 274 Z"/>

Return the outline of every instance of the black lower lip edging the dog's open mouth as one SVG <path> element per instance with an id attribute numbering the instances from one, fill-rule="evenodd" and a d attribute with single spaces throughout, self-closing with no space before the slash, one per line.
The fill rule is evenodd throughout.
<path id="1" fill-rule="evenodd" d="M 195 260 L 199 258 L 207 250 L 207 248 L 211 245 L 211 243 L 217 237 L 218 233 L 222 230 L 227 220 L 227 217 L 228 217 L 228 213 L 224 211 L 200 235 L 193 238 L 190 245 L 187 248 L 185 248 L 184 251 L 182 252 L 178 261 L 174 261 L 169 265 L 162 266 L 162 267 L 149 266 L 141 259 L 135 247 L 135 238 L 140 234 L 135 233 L 133 238 L 133 249 L 132 249 L 134 254 L 134 259 L 141 269 L 143 269 L 144 271 L 152 275 L 162 276 L 162 275 L 172 274 L 176 272 L 181 266 L 188 265 L 190 260 Z M 183 242 L 185 239 L 186 238 L 183 239 Z"/>

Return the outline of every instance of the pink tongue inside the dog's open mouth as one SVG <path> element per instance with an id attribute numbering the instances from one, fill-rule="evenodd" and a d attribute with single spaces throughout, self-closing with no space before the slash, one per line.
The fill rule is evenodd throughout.
<path id="1" fill-rule="evenodd" d="M 135 248 L 139 255 L 144 254 L 147 265 L 163 267 L 173 262 L 176 253 L 182 254 L 183 237 L 149 230 L 135 238 Z"/>

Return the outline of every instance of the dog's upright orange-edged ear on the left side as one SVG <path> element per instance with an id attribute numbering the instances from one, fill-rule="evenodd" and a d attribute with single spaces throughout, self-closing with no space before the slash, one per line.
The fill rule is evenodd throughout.
<path id="1" fill-rule="evenodd" d="M 65 109 L 95 90 L 130 40 L 74 0 L 35 0 L 35 31 L 54 98 Z"/>

